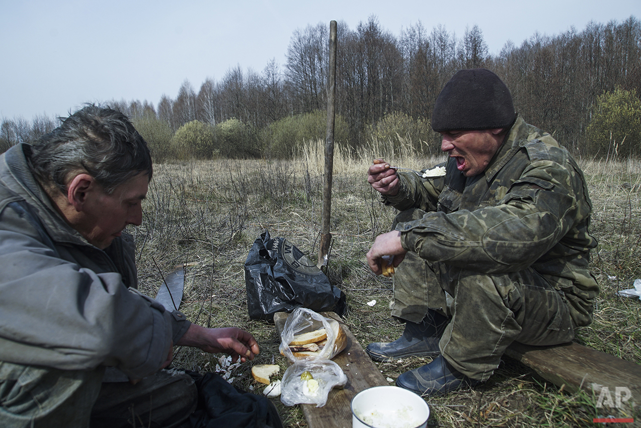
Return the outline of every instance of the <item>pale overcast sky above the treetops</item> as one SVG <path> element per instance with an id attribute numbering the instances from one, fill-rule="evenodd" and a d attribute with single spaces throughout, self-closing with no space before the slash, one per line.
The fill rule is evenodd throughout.
<path id="1" fill-rule="evenodd" d="M 478 25 L 497 54 L 536 31 L 639 19 L 641 1 L 0 0 L 0 118 L 66 115 L 112 99 L 156 106 L 185 79 L 198 91 L 237 65 L 262 72 L 274 58 L 284 67 L 296 29 L 332 20 L 356 29 L 370 15 L 396 37 L 419 21 L 457 38 Z"/>

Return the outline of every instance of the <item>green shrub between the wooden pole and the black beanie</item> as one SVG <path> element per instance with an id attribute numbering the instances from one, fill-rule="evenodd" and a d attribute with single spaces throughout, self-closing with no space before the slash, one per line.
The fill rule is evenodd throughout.
<path id="1" fill-rule="evenodd" d="M 365 127 L 365 139 L 372 145 L 391 145 L 390 152 L 413 151 L 431 156 L 439 152 L 437 133 L 428 119 L 413 119 L 402 111 L 389 113 L 374 124 Z M 406 147 L 410 144 L 411 147 Z"/>

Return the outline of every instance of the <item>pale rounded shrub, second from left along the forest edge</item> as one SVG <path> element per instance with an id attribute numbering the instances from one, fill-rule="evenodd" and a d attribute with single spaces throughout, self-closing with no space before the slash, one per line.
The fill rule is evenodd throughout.
<path id="1" fill-rule="evenodd" d="M 187 122 L 176 131 L 171 140 L 176 158 L 212 159 L 218 155 L 214 148 L 214 133 L 210 125 L 199 120 Z"/>

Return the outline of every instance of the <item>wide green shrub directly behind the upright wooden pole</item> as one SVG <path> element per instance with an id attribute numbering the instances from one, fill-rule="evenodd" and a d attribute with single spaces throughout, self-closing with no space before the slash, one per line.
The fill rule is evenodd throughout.
<path id="1" fill-rule="evenodd" d="M 336 115 L 334 141 L 346 143 L 349 127 L 342 116 Z M 304 144 L 310 140 L 327 139 L 327 113 L 315 110 L 295 116 L 284 117 L 273 122 L 262 132 L 263 153 L 267 158 L 292 158 L 301 154 Z"/>

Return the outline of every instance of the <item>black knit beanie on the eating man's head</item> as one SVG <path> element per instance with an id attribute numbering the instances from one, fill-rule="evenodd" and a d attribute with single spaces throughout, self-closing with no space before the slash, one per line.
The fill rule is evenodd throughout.
<path id="1" fill-rule="evenodd" d="M 460 70 L 445 83 L 432 111 L 432 129 L 470 131 L 508 128 L 516 119 L 512 95 L 487 69 Z"/>

